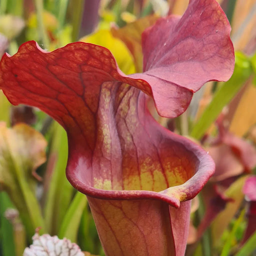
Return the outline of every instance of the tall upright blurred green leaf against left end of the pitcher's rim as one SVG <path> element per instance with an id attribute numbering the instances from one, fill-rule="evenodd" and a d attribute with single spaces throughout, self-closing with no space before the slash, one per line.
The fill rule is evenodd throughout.
<path id="1" fill-rule="evenodd" d="M 50 234 L 58 232 L 65 213 L 71 201 L 73 187 L 65 175 L 67 162 L 67 136 L 65 130 L 58 124 L 52 125 L 52 141 L 49 148 L 49 160 L 45 178 L 49 187 L 44 208 L 45 224 Z M 52 166 L 53 165 L 53 166 Z"/>

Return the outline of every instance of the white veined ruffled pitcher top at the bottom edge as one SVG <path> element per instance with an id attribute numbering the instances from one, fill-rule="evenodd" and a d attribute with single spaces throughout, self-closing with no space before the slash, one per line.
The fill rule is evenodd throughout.
<path id="1" fill-rule="evenodd" d="M 84 256 L 79 246 L 66 238 L 35 233 L 32 239 L 33 243 L 25 248 L 23 256 Z"/>

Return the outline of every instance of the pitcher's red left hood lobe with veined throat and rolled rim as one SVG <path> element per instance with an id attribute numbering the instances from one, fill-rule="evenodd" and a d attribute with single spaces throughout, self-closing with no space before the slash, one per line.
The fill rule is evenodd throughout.
<path id="1" fill-rule="evenodd" d="M 30 41 L 4 55 L 1 69 L 0 86 L 13 104 L 37 106 L 64 126 L 67 176 L 88 195 L 161 198 L 178 207 L 213 172 L 199 146 L 155 122 L 138 90 L 150 94 L 149 84 L 121 74 L 103 47 L 77 42 L 46 53 Z M 187 190 L 189 178 L 196 192 Z"/>

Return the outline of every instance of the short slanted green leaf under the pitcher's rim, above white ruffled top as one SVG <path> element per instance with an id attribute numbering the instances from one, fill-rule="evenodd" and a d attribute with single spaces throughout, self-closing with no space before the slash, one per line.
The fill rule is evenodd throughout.
<path id="1" fill-rule="evenodd" d="M 66 237 L 72 242 L 76 242 L 78 227 L 86 204 L 86 196 L 77 191 L 60 226 L 59 238 Z"/>

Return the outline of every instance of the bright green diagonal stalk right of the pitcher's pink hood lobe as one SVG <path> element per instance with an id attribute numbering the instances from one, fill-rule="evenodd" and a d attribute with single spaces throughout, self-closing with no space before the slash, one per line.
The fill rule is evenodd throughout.
<path id="1" fill-rule="evenodd" d="M 223 107 L 230 102 L 251 74 L 250 59 L 243 53 L 236 52 L 233 75 L 215 92 L 211 102 L 205 108 L 199 120 L 194 124 L 190 136 L 196 139 L 200 139 L 203 136 Z"/>

